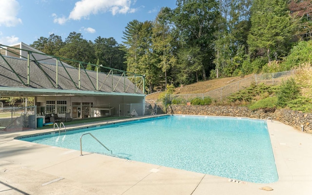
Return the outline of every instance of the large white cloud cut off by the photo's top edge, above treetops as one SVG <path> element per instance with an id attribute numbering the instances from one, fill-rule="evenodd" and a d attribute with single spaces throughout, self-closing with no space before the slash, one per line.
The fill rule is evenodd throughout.
<path id="1" fill-rule="evenodd" d="M 76 2 L 68 19 L 88 19 L 91 14 L 111 12 L 112 15 L 134 13 L 131 0 L 80 0 Z"/>

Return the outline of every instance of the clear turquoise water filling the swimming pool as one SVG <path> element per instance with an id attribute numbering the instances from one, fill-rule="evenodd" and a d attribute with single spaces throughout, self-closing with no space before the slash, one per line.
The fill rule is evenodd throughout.
<path id="1" fill-rule="evenodd" d="M 263 120 L 170 116 L 22 140 L 80 150 L 85 133 L 92 133 L 114 155 L 131 160 L 255 183 L 278 180 Z M 110 154 L 89 135 L 82 138 L 82 149 Z"/>

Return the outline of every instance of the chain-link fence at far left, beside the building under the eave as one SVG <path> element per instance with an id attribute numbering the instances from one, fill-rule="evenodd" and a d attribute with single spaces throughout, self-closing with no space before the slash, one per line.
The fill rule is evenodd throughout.
<path id="1" fill-rule="evenodd" d="M 36 129 L 36 106 L 0 108 L 0 134 Z"/>

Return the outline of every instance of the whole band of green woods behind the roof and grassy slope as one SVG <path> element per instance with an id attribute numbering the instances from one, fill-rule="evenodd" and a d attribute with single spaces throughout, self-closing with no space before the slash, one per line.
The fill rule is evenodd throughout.
<path id="1" fill-rule="evenodd" d="M 72 32 L 65 40 L 55 34 L 40 37 L 31 46 L 90 62 L 87 69 L 102 64 L 145 75 L 147 93 L 153 93 L 167 84 L 310 63 L 311 9 L 309 0 L 176 0 L 175 9 L 163 7 L 153 21 L 128 22 L 122 43 L 86 40 Z"/>

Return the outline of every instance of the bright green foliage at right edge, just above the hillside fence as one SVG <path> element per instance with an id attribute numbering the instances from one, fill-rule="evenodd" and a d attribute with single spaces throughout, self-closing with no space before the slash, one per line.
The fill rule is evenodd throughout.
<path id="1" fill-rule="evenodd" d="M 312 40 L 300 41 L 295 45 L 285 61 L 281 64 L 281 71 L 291 70 L 295 66 L 312 62 Z"/>

